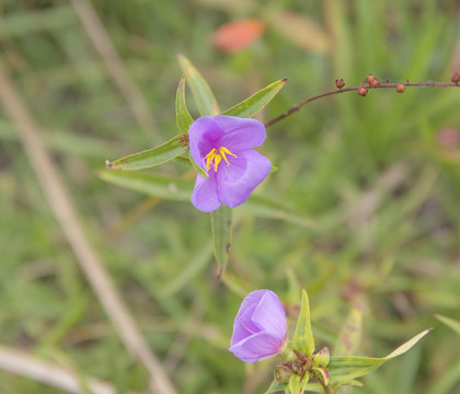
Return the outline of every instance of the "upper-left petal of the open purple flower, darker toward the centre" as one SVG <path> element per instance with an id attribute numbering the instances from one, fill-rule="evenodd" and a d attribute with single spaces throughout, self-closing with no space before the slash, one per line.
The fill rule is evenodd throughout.
<path id="1" fill-rule="evenodd" d="M 212 116 L 202 116 L 193 121 L 188 128 L 192 158 L 203 169 L 205 169 L 203 159 L 212 148 L 220 148 L 218 143 L 225 134 L 215 118 Z"/>

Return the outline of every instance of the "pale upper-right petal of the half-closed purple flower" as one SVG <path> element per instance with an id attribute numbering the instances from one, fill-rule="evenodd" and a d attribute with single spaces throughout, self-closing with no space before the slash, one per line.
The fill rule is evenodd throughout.
<path id="1" fill-rule="evenodd" d="M 261 331 L 285 340 L 287 331 L 286 312 L 273 291 L 265 292 L 252 315 L 253 323 Z"/>

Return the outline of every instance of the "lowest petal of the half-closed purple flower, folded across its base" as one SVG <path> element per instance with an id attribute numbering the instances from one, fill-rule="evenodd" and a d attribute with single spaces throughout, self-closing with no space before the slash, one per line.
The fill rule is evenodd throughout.
<path id="1" fill-rule="evenodd" d="M 267 333 L 250 336 L 230 347 L 230 351 L 245 362 L 255 362 L 279 352 L 283 340 Z"/>

